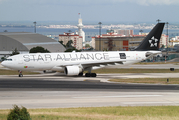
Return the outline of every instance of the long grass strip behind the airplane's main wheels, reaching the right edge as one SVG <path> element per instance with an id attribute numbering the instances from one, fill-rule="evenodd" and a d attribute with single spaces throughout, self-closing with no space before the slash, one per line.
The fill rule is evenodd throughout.
<path id="1" fill-rule="evenodd" d="M 118 69 L 118 68 L 104 68 L 93 70 L 94 73 L 179 73 L 179 69 L 170 71 L 169 69 Z"/>

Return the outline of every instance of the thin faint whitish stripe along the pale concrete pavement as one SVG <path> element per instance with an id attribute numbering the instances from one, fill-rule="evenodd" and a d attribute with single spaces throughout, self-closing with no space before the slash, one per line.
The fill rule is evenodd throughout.
<path id="1" fill-rule="evenodd" d="M 73 97 L 73 98 L 129 98 L 129 97 L 160 97 L 163 95 L 125 95 L 125 96 L 92 96 L 92 97 Z"/>

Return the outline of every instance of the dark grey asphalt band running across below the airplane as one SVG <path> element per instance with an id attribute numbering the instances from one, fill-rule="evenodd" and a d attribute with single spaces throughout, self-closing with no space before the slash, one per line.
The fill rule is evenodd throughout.
<path id="1" fill-rule="evenodd" d="M 179 85 L 124 84 L 98 81 L 57 81 L 41 79 L 0 79 L 1 91 L 61 91 L 61 90 L 179 90 Z"/>

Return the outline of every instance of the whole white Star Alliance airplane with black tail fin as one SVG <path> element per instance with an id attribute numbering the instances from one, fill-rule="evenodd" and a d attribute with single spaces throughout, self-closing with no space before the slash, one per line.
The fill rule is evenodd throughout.
<path id="1" fill-rule="evenodd" d="M 146 60 L 161 53 L 159 43 L 165 23 L 158 23 L 144 38 L 134 51 L 103 51 L 103 52 L 61 52 L 61 53 L 29 53 L 10 56 L 1 64 L 4 67 L 22 71 L 64 71 L 68 76 L 96 77 L 91 73 L 109 65 L 128 65 Z"/>

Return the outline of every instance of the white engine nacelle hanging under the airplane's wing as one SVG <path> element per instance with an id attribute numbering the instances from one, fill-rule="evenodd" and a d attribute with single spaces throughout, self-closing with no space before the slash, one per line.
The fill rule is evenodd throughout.
<path id="1" fill-rule="evenodd" d="M 65 67 L 65 74 L 66 75 L 78 75 L 83 70 L 79 66 L 66 66 Z"/>

